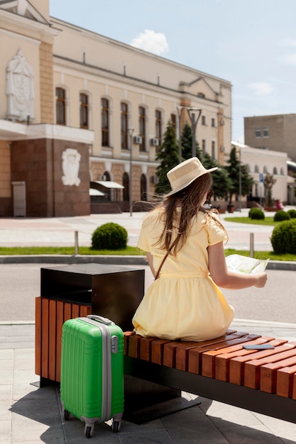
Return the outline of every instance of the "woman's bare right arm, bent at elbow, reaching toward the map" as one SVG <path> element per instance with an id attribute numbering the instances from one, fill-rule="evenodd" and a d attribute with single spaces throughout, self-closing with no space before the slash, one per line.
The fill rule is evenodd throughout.
<path id="1" fill-rule="evenodd" d="M 226 265 L 223 242 L 207 248 L 209 257 L 209 272 L 218 287 L 239 290 L 248 287 L 264 287 L 267 281 L 266 273 L 243 274 L 229 272 Z"/>

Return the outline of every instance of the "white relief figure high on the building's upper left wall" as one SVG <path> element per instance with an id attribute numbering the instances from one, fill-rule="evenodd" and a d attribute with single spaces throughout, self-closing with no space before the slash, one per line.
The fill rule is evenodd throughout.
<path id="1" fill-rule="evenodd" d="M 34 117 L 34 74 L 19 49 L 6 68 L 7 118 L 30 121 Z"/>

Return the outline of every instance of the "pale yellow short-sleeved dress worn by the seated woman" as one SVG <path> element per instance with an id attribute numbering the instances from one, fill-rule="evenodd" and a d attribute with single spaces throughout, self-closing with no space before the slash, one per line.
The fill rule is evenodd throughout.
<path id="1" fill-rule="evenodd" d="M 162 214 L 162 209 L 148 213 L 138 238 L 138 248 L 153 255 L 155 272 L 165 256 L 155 245 L 163 232 Z M 214 217 L 204 226 L 204 213 L 199 211 L 185 245 L 176 256 L 168 255 L 160 277 L 150 285 L 133 316 L 138 335 L 200 341 L 226 333 L 234 309 L 214 284 L 208 268 L 207 247 L 226 240 Z"/>

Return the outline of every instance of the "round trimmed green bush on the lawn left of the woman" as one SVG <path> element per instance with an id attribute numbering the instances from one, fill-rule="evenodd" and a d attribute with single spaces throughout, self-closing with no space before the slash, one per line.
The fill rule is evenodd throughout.
<path id="1" fill-rule="evenodd" d="M 94 250 L 121 250 L 126 248 L 128 232 L 118 223 L 108 222 L 99 226 L 92 233 Z"/>

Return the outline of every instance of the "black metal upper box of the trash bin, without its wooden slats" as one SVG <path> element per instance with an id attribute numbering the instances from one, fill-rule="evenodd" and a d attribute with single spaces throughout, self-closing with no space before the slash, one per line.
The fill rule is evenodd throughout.
<path id="1" fill-rule="evenodd" d="M 91 305 L 122 328 L 133 329 L 131 319 L 144 294 L 145 270 L 121 265 L 73 264 L 41 268 L 41 297 Z"/>

